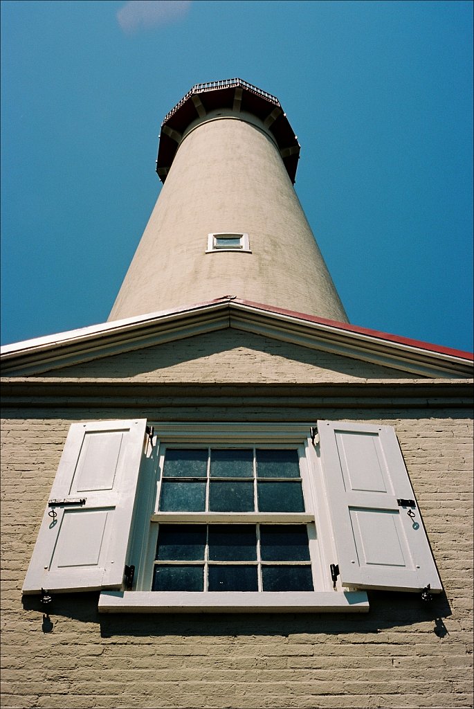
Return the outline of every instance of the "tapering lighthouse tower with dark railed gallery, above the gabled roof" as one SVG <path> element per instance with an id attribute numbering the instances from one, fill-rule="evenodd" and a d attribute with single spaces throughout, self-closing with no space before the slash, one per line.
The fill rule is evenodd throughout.
<path id="1" fill-rule="evenodd" d="M 193 86 L 162 123 L 163 189 L 108 320 L 236 296 L 346 323 L 293 188 L 299 152 L 275 96 Z"/>

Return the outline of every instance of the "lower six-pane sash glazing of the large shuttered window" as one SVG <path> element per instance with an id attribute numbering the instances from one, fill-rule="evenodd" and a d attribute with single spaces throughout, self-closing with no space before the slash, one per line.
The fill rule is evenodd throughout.
<path id="1" fill-rule="evenodd" d="M 307 525 L 159 525 L 152 591 L 314 591 Z"/>

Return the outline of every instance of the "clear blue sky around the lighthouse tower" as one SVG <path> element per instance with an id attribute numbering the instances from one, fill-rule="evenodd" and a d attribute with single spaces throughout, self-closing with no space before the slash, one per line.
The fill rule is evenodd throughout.
<path id="1" fill-rule="evenodd" d="M 162 118 L 241 77 L 354 325 L 473 350 L 470 2 L 1 2 L 1 342 L 104 322 L 160 189 Z"/>

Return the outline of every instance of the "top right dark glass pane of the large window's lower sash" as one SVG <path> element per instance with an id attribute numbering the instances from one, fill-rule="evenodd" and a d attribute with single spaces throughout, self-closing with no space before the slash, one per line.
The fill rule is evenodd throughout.
<path id="1" fill-rule="evenodd" d="M 305 525 L 260 525 L 260 552 L 264 562 L 309 562 Z"/>

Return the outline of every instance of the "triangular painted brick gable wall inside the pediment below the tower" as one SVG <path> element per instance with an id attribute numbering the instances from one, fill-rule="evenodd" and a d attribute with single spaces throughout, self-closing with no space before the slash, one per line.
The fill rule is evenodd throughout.
<path id="1" fill-rule="evenodd" d="M 233 328 L 53 370 L 64 379 L 245 383 L 414 379 L 416 375 Z"/>

